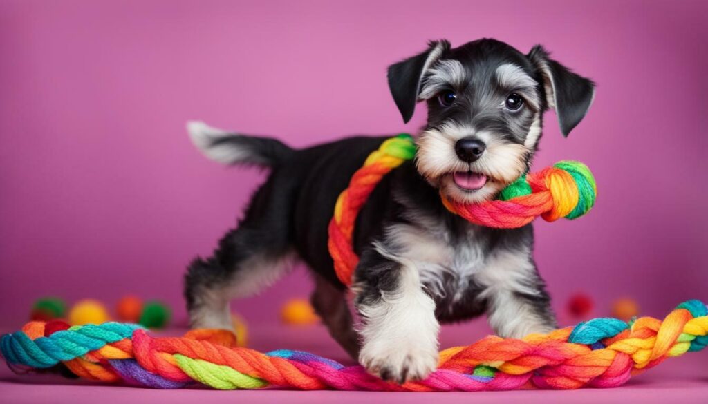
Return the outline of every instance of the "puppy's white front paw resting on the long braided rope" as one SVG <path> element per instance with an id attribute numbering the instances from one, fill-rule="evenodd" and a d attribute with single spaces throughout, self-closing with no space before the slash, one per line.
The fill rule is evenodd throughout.
<path id="1" fill-rule="evenodd" d="M 415 337 L 372 340 L 362 347 L 359 362 L 370 374 L 386 381 L 418 381 L 438 367 L 438 345 Z"/>

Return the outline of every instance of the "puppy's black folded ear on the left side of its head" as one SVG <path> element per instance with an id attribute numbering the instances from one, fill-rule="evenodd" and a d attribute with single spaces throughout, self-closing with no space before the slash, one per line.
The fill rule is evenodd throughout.
<path id="1" fill-rule="evenodd" d="M 389 66 L 389 88 L 404 122 L 407 123 L 413 117 L 423 74 L 449 49 L 450 42 L 447 40 L 431 41 L 426 52 Z"/>

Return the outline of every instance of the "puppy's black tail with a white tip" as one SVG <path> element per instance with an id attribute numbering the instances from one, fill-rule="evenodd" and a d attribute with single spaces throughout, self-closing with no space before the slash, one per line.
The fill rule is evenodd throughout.
<path id="1" fill-rule="evenodd" d="M 272 167 L 295 153 L 278 139 L 227 132 L 201 121 L 187 122 L 187 132 L 202 154 L 223 164 Z"/>

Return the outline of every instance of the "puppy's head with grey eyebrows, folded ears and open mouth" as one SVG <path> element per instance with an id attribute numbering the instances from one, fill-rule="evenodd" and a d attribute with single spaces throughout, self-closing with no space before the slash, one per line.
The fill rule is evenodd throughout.
<path id="1" fill-rule="evenodd" d="M 541 137 L 542 115 L 556 110 L 565 136 L 586 115 L 593 82 L 573 73 L 540 45 L 523 54 L 482 39 L 393 64 L 389 87 L 408 122 L 418 101 L 428 122 L 417 139 L 418 171 L 458 202 L 491 200 L 525 173 Z"/>

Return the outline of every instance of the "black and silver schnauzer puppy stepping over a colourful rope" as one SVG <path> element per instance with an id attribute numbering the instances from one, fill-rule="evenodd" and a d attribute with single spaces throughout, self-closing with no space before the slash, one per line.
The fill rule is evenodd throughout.
<path id="1" fill-rule="evenodd" d="M 231 328 L 229 301 L 258 293 L 300 260 L 314 272 L 312 303 L 331 335 L 384 379 L 421 379 L 435 369 L 439 323 L 486 313 L 505 337 L 554 328 L 532 226 L 475 226 L 447 212 L 440 192 L 469 203 L 496 197 L 529 170 L 543 112 L 554 108 L 567 135 L 590 108 L 593 83 L 541 46 L 523 54 L 491 39 L 454 49 L 430 42 L 389 67 L 388 79 L 404 121 L 424 100 L 428 122 L 415 161 L 389 173 L 358 217 L 361 260 L 352 290 L 360 325 L 333 271 L 327 225 L 352 173 L 386 137 L 294 150 L 190 122 L 193 142 L 208 157 L 270 168 L 238 227 L 185 275 L 193 327 Z"/>

